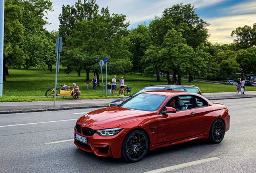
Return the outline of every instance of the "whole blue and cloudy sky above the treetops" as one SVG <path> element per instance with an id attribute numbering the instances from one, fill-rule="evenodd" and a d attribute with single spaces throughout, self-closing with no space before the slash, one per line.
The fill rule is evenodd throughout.
<path id="1" fill-rule="evenodd" d="M 50 25 L 47 30 L 58 30 L 58 16 L 62 13 L 62 5 L 74 5 L 77 0 L 51 0 L 54 12 L 48 12 Z M 83 0 L 82 0 L 83 2 Z M 96 0 L 99 11 L 102 7 L 109 8 L 110 14 L 125 14 L 130 22 L 130 28 L 138 24 L 149 23 L 155 16 L 161 16 L 165 8 L 176 4 L 192 4 L 197 8 L 196 14 L 208 22 L 209 41 L 212 44 L 230 44 L 235 36 L 230 36 L 232 30 L 239 26 L 251 26 L 256 23 L 255 0 Z"/>

